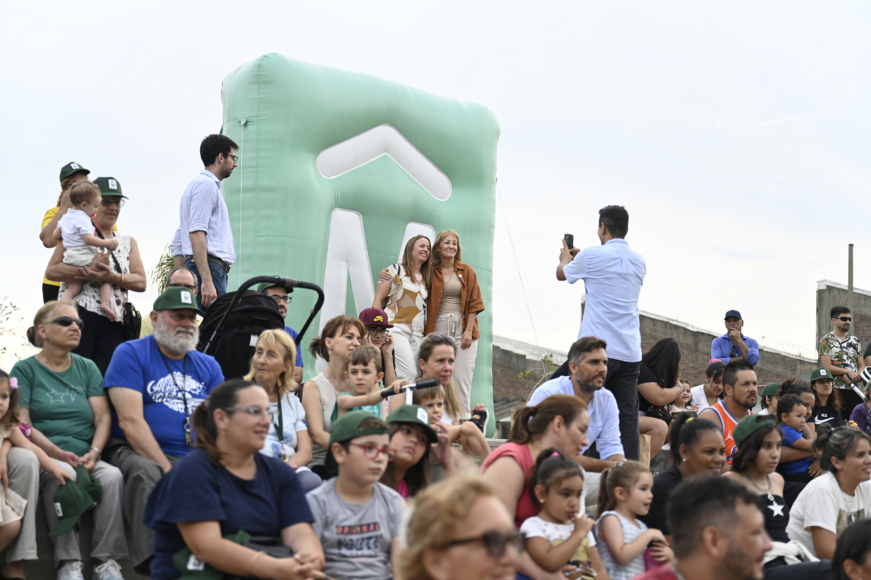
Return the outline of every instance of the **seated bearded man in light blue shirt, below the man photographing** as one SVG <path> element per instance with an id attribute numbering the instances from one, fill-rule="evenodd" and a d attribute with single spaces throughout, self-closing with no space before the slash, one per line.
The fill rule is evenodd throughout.
<path id="1" fill-rule="evenodd" d="M 584 478 L 587 503 L 596 503 L 599 474 L 625 459 L 623 444 L 620 443 L 617 400 L 610 390 L 602 388 L 608 371 L 606 346 L 604 340 L 597 337 L 584 337 L 572 344 L 569 350 L 571 375 L 550 379 L 533 391 L 526 402 L 527 407 L 534 407 L 551 395 L 570 395 L 587 405 L 590 415 L 590 427 L 587 430 L 589 443 L 584 451 L 596 443 L 598 455 L 603 457 L 594 459 L 577 456 L 578 465 L 587 471 L 587 477 Z"/>

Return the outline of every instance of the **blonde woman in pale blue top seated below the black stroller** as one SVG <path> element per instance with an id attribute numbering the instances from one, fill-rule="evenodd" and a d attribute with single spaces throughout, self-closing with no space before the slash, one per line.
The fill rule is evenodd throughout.
<path id="1" fill-rule="evenodd" d="M 300 388 L 293 377 L 296 344 L 285 330 L 264 330 L 257 339 L 246 381 L 256 381 L 267 390 L 269 407 L 276 413 L 267 443 L 260 453 L 279 457 L 296 471 L 303 492 L 321 485 L 321 477 L 307 465 L 312 460 L 312 437 L 308 435 L 306 411 L 294 393 Z"/>

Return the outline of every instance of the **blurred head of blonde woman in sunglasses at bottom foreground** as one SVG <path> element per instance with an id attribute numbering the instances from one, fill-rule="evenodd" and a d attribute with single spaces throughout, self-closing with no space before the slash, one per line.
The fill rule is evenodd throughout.
<path id="1" fill-rule="evenodd" d="M 403 580 L 514 579 L 523 536 L 482 477 L 435 483 L 415 498 L 413 510 L 399 561 Z M 565 580 L 559 572 L 554 577 Z"/>

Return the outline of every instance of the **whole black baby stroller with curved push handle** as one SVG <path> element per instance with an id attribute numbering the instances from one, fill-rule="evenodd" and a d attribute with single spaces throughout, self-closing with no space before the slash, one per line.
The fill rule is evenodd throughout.
<path id="1" fill-rule="evenodd" d="M 318 293 L 318 300 L 296 337 L 297 349 L 300 348 L 302 336 L 324 303 L 323 290 L 317 284 L 275 276 L 253 277 L 246 280 L 239 290 L 227 292 L 215 300 L 206 310 L 203 323 L 199 325 L 197 350 L 215 357 L 226 379 L 244 377 L 247 374 L 251 357 L 257 347 L 257 337 L 261 332 L 284 328 L 284 318 L 279 314 L 273 299 L 260 292 L 248 290 L 261 282 L 274 282 L 288 290 L 307 288 Z"/>

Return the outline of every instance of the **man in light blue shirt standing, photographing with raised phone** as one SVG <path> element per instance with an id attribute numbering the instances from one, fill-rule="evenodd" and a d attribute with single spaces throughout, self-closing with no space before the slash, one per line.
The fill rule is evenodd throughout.
<path id="1" fill-rule="evenodd" d="M 638 460 L 638 368 L 641 333 L 638 296 L 645 281 L 645 258 L 629 247 L 629 212 L 621 205 L 599 210 L 597 235 L 601 245 L 578 250 L 563 238 L 557 280 L 584 280 L 586 306 L 577 337 L 598 337 L 608 343 L 608 374 L 604 388 L 617 399 L 620 440 L 627 459 Z M 569 375 L 568 361 L 551 378 Z"/>

